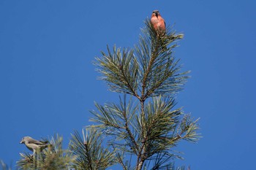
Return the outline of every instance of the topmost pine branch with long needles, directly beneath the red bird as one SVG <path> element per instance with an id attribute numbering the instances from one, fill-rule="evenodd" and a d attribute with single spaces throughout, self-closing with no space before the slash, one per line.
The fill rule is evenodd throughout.
<path id="1" fill-rule="evenodd" d="M 159 37 L 149 20 L 142 31 L 139 45 L 135 46 L 143 76 L 141 100 L 146 100 L 149 96 L 168 96 L 181 90 L 187 79 L 184 75 L 188 72 L 179 73 L 181 66 L 178 66 L 178 61 L 173 57 L 173 48 L 177 45 L 170 45 L 181 39 L 181 34 L 167 29 Z"/>

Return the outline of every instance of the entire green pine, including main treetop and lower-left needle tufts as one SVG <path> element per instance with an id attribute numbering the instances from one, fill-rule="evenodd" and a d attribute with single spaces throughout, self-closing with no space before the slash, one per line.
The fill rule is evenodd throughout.
<path id="1" fill-rule="evenodd" d="M 120 93 L 119 103 L 95 103 L 95 124 L 83 137 L 75 131 L 69 150 L 62 150 L 58 136 L 37 156 L 21 153 L 19 169 L 98 170 L 115 164 L 124 170 L 185 169 L 174 167 L 173 158 L 181 155 L 173 148 L 181 140 L 197 142 L 199 134 L 198 119 L 175 108 L 189 73 L 181 72 L 173 55 L 183 34 L 170 28 L 159 34 L 149 20 L 145 23 L 134 49 L 107 47 L 94 63 L 109 90 Z"/>

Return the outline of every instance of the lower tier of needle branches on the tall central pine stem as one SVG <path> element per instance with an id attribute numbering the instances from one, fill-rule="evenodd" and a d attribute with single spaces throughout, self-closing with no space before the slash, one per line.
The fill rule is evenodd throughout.
<path id="1" fill-rule="evenodd" d="M 124 152 L 142 156 L 144 161 L 162 161 L 171 158 L 180 158 L 171 152 L 181 139 L 189 142 L 197 142 L 198 129 L 196 123 L 189 115 L 184 115 L 181 109 L 173 109 L 173 98 L 153 98 L 145 106 L 145 118 L 138 112 L 138 104 L 133 104 L 132 99 L 120 100 L 120 104 L 96 104 L 98 112 L 93 111 L 95 116 L 91 120 L 99 123 L 92 127 L 97 128 L 99 134 L 113 136 L 108 144 L 117 148 L 121 160 Z M 142 134 L 145 133 L 145 137 Z M 120 162 L 121 163 L 121 162 Z"/>

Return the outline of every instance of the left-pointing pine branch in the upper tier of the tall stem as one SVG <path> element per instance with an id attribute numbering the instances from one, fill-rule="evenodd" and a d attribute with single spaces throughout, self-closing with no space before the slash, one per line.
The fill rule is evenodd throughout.
<path id="1" fill-rule="evenodd" d="M 96 58 L 97 71 L 102 73 L 101 80 L 108 82 L 110 90 L 118 93 L 128 93 L 139 98 L 138 61 L 134 58 L 133 50 L 116 49 L 113 53 L 108 48 L 108 54 L 102 52 L 102 58 Z M 125 71 L 125 72 L 124 72 Z"/>

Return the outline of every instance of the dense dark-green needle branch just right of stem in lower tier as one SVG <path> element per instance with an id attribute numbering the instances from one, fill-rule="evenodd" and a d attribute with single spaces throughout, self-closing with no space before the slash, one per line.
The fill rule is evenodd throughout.
<path id="1" fill-rule="evenodd" d="M 162 152 L 173 146 L 170 142 L 171 134 L 176 128 L 180 110 L 170 111 L 174 107 L 173 98 L 162 101 L 161 98 L 154 98 L 152 103 L 146 107 L 146 139 L 143 140 L 146 149 L 146 158 L 157 152 Z"/>

